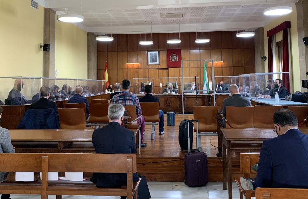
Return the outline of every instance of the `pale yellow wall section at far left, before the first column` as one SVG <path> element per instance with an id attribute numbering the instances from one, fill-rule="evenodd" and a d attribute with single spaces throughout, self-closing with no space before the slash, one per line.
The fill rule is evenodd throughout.
<path id="1" fill-rule="evenodd" d="M 0 0 L 0 76 L 43 75 L 44 8 L 25 0 Z M 3 86 L 3 85 L 1 85 Z"/>

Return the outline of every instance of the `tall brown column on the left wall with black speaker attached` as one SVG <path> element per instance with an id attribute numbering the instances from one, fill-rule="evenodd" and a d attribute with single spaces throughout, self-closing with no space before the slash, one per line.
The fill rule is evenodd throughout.
<path id="1" fill-rule="evenodd" d="M 50 8 L 44 9 L 44 43 L 50 44 L 50 51 L 43 54 L 43 77 L 55 78 L 55 37 L 56 12 Z"/>

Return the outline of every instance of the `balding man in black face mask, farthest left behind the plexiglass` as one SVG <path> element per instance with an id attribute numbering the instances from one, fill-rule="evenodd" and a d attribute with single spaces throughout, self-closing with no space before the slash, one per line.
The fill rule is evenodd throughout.
<path id="1" fill-rule="evenodd" d="M 24 105 L 27 103 L 25 96 L 21 94 L 24 85 L 21 79 L 15 80 L 14 87 L 10 90 L 9 96 L 7 97 L 8 105 Z"/>

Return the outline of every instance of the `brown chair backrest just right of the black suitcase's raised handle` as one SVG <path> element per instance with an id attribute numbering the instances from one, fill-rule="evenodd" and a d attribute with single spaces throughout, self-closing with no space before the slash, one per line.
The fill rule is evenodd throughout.
<path id="1" fill-rule="evenodd" d="M 217 132 L 216 114 L 221 106 L 194 106 L 193 118 L 199 120 L 199 132 Z M 195 131 L 197 128 L 195 128 Z"/>

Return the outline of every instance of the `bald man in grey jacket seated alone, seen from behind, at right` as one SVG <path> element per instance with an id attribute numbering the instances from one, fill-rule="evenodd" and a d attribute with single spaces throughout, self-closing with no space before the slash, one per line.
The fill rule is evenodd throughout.
<path id="1" fill-rule="evenodd" d="M 222 102 L 222 115 L 224 117 L 226 117 L 227 106 L 237 106 L 237 107 L 251 106 L 251 101 L 240 94 L 240 90 L 236 84 L 231 84 L 229 90 L 231 97 L 225 98 L 224 101 Z M 222 121 L 222 127 L 225 127 L 225 120 Z"/>

